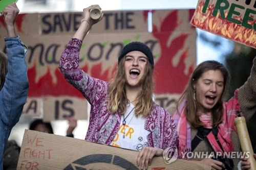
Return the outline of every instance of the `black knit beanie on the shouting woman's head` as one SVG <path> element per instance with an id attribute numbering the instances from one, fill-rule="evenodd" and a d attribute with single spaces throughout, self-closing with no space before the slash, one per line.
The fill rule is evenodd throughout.
<path id="1" fill-rule="evenodd" d="M 132 51 L 140 51 L 145 54 L 148 61 L 150 62 L 150 65 L 152 68 L 154 68 L 154 58 L 150 48 L 146 44 L 138 41 L 131 42 L 123 47 L 121 54 L 118 57 L 118 64 L 127 53 Z"/>

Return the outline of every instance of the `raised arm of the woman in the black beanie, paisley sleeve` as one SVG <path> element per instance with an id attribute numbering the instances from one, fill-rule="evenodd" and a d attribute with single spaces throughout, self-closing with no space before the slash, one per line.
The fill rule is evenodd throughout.
<path id="1" fill-rule="evenodd" d="M 79 67 L 79 52 L 82 41 L 92 25 L 100 21 L 103 17 L 102 14 L 97 20 L 91 19 L 89 11 L 94 7 L 100 8 L 98 5 L 93 5 L 83 9 L 81 25 L 69 41 L 66 49 L 62 52 L 59 62 L 60 71 L 65 79 L 77 88 L 91 105 L 97 100 L 96 94 L 100 93 L 100 89 L 102 90 L 102 87 L 103 89 L 104 87 L 107 88 L 106 86 L 108 85 L 104 81 L 90 77 Z"/>

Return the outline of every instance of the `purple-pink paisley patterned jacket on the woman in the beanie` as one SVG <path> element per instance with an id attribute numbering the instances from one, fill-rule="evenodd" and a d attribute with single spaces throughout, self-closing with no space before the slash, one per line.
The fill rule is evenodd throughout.
<path id="1" fill-rule="evenodd" d="M 80 90 L 91 104 L 90 123 L 86 140 L 110 144 L 120 125 L 120 114 L 110 114 L 108 105 L 109 83 L 90 77 L 79 67 L 81 40 L 71 39 L 62 52 L 59 68 L 65 79 Z M 176 125 L 170 114 L 154 103 L 153 110 L 145 119 L 144 128 L 150 147 L 178 147 Z"/>

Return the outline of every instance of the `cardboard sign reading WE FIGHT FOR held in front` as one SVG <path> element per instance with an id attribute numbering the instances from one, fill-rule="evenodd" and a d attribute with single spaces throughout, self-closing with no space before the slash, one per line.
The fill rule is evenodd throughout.
<path id="1" fill-rule="evenodd" d="M 81 139 L 25 130 L 17 169 L 131 169 L 136 166 L 138 152 Z M 176 160 L 170 164 L 155 157 L 148 167 L 162 169 L 210 169 L 210 166 Z"/>

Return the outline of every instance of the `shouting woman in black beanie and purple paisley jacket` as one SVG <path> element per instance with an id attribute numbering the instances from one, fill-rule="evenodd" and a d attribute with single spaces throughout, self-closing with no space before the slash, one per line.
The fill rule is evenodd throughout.
<path id="1" fill-rule="evenodd" d="M 86 74 L 79 67 L 79 51 L 91 26 L 103 17 L 90 18 L 95 7 L 100 9 L 83 9 L 84 18 L 61 55 L 59 68 L 91 104 L 86 140 L 140 151 L 137 165 L 147 168 L 155 155 L 179 143 L 174 120 L 152 100 L 153 54 L 144 43 L 131 42 L 123 47 L 110 83 Z"/>

